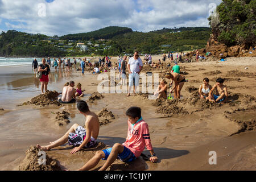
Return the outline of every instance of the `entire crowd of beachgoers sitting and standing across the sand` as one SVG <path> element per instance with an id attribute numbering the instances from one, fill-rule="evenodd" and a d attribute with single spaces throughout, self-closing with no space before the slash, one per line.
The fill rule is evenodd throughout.
<path id="1" fill-rule="evenodd" d="M 181 56 L 183 56 L 182 53 L 179 55 L 177 54 L 176 60 L 174 61 L 174 55 L 170 52 L 168 56 L 165 54 L 163 55 L 162 61 L 159 59 L 158 62 L 155 63 L 152 62 L 151 55 L 144 55 L 143 63 L 139 52 L 135 51 L 133 56 L 119 56 L 118 61 L 115 64 L 112 64 L 111 57 L 109 56 L 98 57 L 98 61 L 93 64 L 90 61 L 87 61 L 86 58 L 78 59 L 78 61 L 76 61 L 75 57 L 73 57 L 72 62 L 71 59 L 66 59 L 65 57 L 63 59 L 54 58 L 52 63 L 51 59 L 48 57 L 47 60 L 42 59 L 42 64 L 39 65 L 36 59 L 34 59 L 32 68 L 35 73 L 41 75 L 38 78 L 40 78 L 42 94 L 44 93 L 44 90 L 47 90 L 47 84 L 49 81 L 48 76 L 51 72 L 51 66 L 55 68 L 55 71 L 62 68 L 65 69 L 66 72 L 71 72 L 72 69 L 74 69 L 75 71 L 81 71 L 82 75 L 84 75 L 86 67 L 90 67 L 90 69 L 88 69 L 89 72 L 95 75 L 114 69 L 118 71 L 122 84 L 125 84 L 127 72 L 129 74 L 129 92 L 126 96 L 129 97 L 131 96 L 131 89 L 133 88 L 133 93 L 135 94 L 135 91 L 139 86 L 139 75 L 143 71 L 144 65 L 148 65 L 151 68 L 160 68 L 163 67 L 163 63 L 168 59 L 170 64 L 173 64 L 174 62 L 174 65 L 172 66 L 172 69 L 170 68 L 170 71 L 164 74 L 164 78 L 161 78 L 160 84 L 155 90 L 154 95 L 157 96 L 157 98 L 164 98 L 166 100 L 179 100 L 181 89 L 185 82 L 188 81 L 185 76 L 181 75 L 180 67 L 177 63 L 177 61 L 181 61 Z M 171 80 L 171 82 L 168 84 L 166 79 Z M 217 78 L 216 83 L 213 86 L 209 84 L 209 78 L 205 77 L 202 80 L 203 83 L 199 86 L 198 97 L 211 102 L 224 103 L 226 101 L 228 98 L 228 91 L 226 86 L 223 84 L 224 79 Z M 82 148 L 95 146 L 100 131 L 99 119 L 94 112 L 90 111 L 85 101 L 76 100 L 77 97 L 84 96 L 81 86 L 82 85 L 78 83 L 75 89 L 74 81 L 67 82 L 64 85 L 62 97 L 59 97 L 58 101 L 63 104 L 77 102 L 77 109 L 86 118 L 86 129 L 75 124 L 63 135 L 63 137 L 55 140 L 55 142 L 51 142 L 47 146 L 40 146 L 38 144 L 37 147 L 40 150 L 48 151 L 51 150 L 51 148 L 61 146 L 68 142 L 69 145 L 75 146 L 75 148 L 71 150 L 71 154 L 75 154 Z M 167 96 L 168 86 L 170 87 L 169 96 Z M 174 97 L 171 97 L 172 92 L 174 92 Z M 217 94 L 213 94 L 214 92 Z M 84 164 L 84 166 L 79 168 L 79 170 L 89 170 L 95 167 L 101 159 L 106 160 L 106 162 L 100 170 L 107 169 L 115 159 L 120 159 L 123 162 L 132 162 L 141 155 L 145 147 L 147 147 L 151 154 L 148 160 L 153 163 L 157 162 L 158 157 L 153 150 L 150 140 L 150 132 L 148 130 L 147 123 L 142 118 L 141 108 L 130 107 L 126 111 L 126 116 L 128 120 L 126 141 L 122 144 L 115 143 L 112 148 L 96 152 L 93 158 Z"/>

